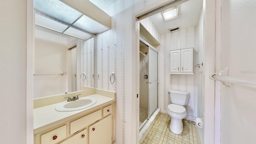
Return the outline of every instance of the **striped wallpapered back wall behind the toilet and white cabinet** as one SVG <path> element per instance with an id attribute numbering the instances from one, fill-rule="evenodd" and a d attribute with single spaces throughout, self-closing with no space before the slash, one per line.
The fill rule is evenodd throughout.
<path id="1" fill-rule="evenodd" d="M 187 114 L 191 115 L 193 109 L 194 116 L 197 117 L 198 110 L 198 68 L 194 68 L 194 74 L 170 74 L 170 50 L 177 50 L 182 48 L 194 48 L 194 62 L 198 61 L 199 47 L 198 47 L 198 30 L 197 26 L 170 32 L 161 35 L 160 45 L 160 108 L 162 112 L 167 113 L 167 106 L 170 104 L 168 90 L 180 90 L 190 92 L 190 99 L 188 105 L 185 106 Z M 201 47 L 200 47 L 201 48 Z M 202 67 L 200 67 L 202 69 Z M 188 120 L 188 117 L 185 119 Z"/>

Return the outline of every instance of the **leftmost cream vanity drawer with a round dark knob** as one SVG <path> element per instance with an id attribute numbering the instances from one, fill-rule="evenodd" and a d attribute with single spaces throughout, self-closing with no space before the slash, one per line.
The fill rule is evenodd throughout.
<path id="1" fill-rule="evenodd" d="M 55 144 L 67 137 L 67 125 L 41 135 L 41 144 Z"/>

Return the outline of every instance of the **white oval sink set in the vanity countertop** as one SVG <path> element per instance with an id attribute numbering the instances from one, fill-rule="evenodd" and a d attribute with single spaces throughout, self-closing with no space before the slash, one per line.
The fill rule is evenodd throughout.
<path id="1" fill-rule="evenodd" d="M 55 107 L 58 112 L 72 112 L 76 110 L 82 110 L 94 105 L 97 102 L 95 98 L 79 98 L 72 102 L 62 102 Z"/>

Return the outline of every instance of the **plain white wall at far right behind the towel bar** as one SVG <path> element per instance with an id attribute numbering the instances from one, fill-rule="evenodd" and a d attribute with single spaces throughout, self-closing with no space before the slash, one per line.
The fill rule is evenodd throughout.
<path id="1" fill-rule="evenodd" d="M 221 68 L 256 79 L 256 1 L 222 0 Z M 221 144 L 255 143 L 256 88 L 221 85 Z"/>

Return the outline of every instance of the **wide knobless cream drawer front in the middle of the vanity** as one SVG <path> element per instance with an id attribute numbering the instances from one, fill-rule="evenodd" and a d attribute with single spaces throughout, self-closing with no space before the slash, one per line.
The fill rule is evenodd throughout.
<path id="1" fill-rule="evenodd" d="M 89 124 L 96 122 L 101 118 L 101 115 L 102 115 L 102 110 L 100 109 L 96 112 L 93 112 L 92 114 L 88 114 L 87 116 L 84 116 L 82 118 L 74 120 L 73 122 L 70 122 L 70 134 L 74 134 L 78 130 L 81 130 L 82 128 L 85 128 Z"/>

